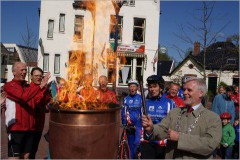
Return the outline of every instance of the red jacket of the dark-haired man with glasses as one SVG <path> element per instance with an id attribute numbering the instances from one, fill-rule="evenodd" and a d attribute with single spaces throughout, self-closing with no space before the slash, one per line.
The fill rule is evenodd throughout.
<path id="1" fill-rule="evenodd" d="M 39 85 L 31 82 L 31 87 L 37 87 Z M 48 112 L 46 110 L 46 105 L 51 100 L 51 94 L 46 90 L 41 90 L 33 99 L 32 104 L 34 104 L 34 111 L 35 111 L 35 129 L 37 131 L 42 131 L 44 128 L 45 123 L 45 113 Z"/>

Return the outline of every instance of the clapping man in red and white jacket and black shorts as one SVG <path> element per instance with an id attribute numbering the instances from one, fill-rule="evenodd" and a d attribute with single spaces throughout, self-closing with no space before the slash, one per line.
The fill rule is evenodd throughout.
<path id="1" fill-rule="evenodd" d="M 7 94 L 5 124 L 8 131 L 8 157 L 29 158 L 35 130 L 34 105 L 30 101 L 42 90 L 50 78 L 46 74 L 39 86 L 30 87 L 25 81 L 27 68 L 22 62 L 12 66 L 14 78 L 4 85 Z"/>

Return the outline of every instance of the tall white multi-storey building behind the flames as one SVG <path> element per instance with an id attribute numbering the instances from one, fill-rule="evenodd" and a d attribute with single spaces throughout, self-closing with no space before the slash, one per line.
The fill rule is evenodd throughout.
<path id="1" fill-rule="evenodd" d="M 78 63 L 82 65 L 83 74 L 90 72 L 91 64 L 97 71 L 94 72 L 95 85 L 100 75 L 112 74 L 109 50 L 114 43 L 114 30 L 110 34 L 110 28 L 115 10 L 110 0 L 97 0 L 95 5 L 94 21 L 89 8 L 80 9 L 74 0 L 41 1 L 38 66 L 44 72 L 51 72 L 52 77 L 67 78 L 69 55 L 79 52 L 82 57 Z M 158 0 L 128 0 L 122 6 L 118 20 L 121 31 L 116 60 L 117 87 L 126 86 L 128 79 L 142 75 L 146 84 L 149 75 L 157 74 L 153 59 L 158 48 L 159 8 Z M 154 65 L 157 68 L 157 63 Z"/>

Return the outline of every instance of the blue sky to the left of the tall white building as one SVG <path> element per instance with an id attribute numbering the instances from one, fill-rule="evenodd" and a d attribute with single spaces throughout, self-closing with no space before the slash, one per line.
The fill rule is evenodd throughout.
<path id="1" fill-rule="evenodd" d="M 40 1 L 1 1 L 1 42 L 21 44 L 27 21 L 29 28 L 38 35 L 38 8 Z"/>

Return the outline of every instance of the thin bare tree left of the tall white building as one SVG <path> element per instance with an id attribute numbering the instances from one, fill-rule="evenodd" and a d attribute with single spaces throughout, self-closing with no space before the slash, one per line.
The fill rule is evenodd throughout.
<path id="1" fill-rule="evenodd" d="M 24 54 L 24 57 L 26 58 L 26 64 L 28 69 L 28 81 L 30 81 L 30 62 L 31 62 L 31 49 L 35 48 L 37 44 L 37 35 L 34 33 L 34 31 L 29 27 L 28 19 L 26 17 L 26 32 L 21 33 L 21 42 L 20 44 L 26 47 L 26 49 L 23 49 L 22 52 Z"/>

